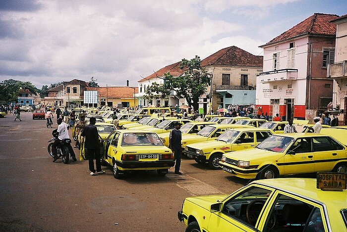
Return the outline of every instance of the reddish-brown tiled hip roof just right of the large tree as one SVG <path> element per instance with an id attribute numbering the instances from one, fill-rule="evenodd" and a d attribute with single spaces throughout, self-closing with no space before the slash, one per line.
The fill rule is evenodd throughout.
<path id="1" fill-rule="evenodd" d="M 201 61 L 201 66 L 263 67 L 263 56 L 253 55 L 237 46 L 223 48 Z"/>

